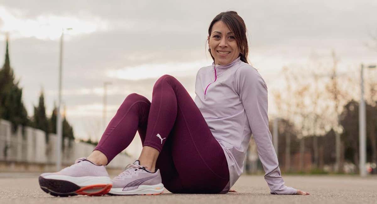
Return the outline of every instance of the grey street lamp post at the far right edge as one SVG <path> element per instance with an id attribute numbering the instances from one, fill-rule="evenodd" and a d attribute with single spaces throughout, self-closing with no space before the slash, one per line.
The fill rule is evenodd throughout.
<path id="1" fill-rule="evenodd" d="M 369 65 L 367 68 L 376 68 L 376 65 Z M 359 151 L 360 151 L 360 176 L 366 176 L 366 113 L 365 113 L 365 100 L 364 100 L 364 65 L 361 64 L 361 71 L 360 71 L 360 105 L 359 105 Z"/>

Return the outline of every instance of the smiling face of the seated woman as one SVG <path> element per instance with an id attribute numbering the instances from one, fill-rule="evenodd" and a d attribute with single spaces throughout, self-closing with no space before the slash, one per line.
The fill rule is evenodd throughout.
<path id="1" fill-rule="evenodd" d="M 234 34 L 221 20 L 213 24 L 208 46 L 216 65 L 227 65 L 239 57 L 239 49 Z"/>

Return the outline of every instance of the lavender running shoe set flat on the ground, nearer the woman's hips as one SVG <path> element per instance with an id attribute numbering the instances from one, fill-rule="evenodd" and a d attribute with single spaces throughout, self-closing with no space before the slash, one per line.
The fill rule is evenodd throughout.
<path id="1" fill-rule="evenodd" d="M 109 195 L 158 195 L 164 192 L 160 170 L 149 172 L 139 160 L 129 164 L 112 182 Z"/>

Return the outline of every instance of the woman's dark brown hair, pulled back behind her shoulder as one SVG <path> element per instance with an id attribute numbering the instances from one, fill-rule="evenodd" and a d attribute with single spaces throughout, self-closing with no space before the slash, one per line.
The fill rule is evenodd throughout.
<path id="1" fill-rule="evenodd" d="M 240 51 L 240 59 L 242 62 L 248 63 L 247 54 L 249 52 L 249 46 L 247 44 L 246 25 L 244 19 L 242 19 L 236 11 L 221 12 L 218 15 L 216 15 L 216 17 L 210 23 L 210 26 L 208 28 L 208 36 L 211 36 L 212 26 L 218 21 L 224 22 L 228 26 L 228 28 L 233 32 L 234 38 L 237 42 L 238 49 Z M 210 55 L 212 59 L 215 60 L 211 52 Z"/>

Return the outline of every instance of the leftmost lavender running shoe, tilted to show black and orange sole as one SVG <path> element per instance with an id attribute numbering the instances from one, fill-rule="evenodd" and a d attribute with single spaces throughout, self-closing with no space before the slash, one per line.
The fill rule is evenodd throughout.
<path id="1" fill-rule="evenodd" d="M 101 196 L 110 191 L 112 182 L 104 166 L 79 158 L 60 172 L 41 174 L 39 185 L 53 196 Z"/>

